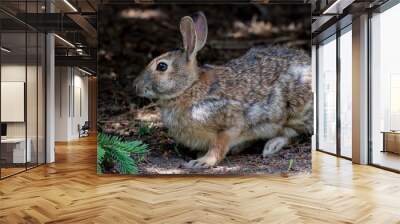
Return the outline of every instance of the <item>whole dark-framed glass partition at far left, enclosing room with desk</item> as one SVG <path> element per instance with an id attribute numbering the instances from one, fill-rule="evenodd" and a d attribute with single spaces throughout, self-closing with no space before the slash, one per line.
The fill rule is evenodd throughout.
<path id="1" fill-rule="evenodd" d="M 39 13 L 43 3 L 1 1 L 0 7 Z M 0 178 L 45 162 L 45 44 L 43 33 L 0 12 Z"/>

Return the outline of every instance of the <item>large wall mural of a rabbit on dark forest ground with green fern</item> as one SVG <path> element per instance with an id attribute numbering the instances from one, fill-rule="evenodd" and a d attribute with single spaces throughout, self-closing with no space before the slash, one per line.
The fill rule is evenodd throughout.
<path id="1" fill-rule="evenodd" d="M 106 4 L 97 172 L 311 171 L 309 5 Z"/>

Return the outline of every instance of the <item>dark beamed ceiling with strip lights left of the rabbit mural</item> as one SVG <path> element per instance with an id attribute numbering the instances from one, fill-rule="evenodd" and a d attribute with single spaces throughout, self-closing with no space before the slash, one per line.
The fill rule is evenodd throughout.
<path id="1" fill-rule="evenodd" d="M 51 32 L 57 34 L 56 65 L 84 65 L 95 71 L 96 11 L 96 0 L 48 0 L 47 5 L 45 0 L 1 0 L 2 46 L 11 50 L 8 53 L 2 51 L 2 55 L 7 55 L 3 60 L 25 62 L 25 57 L 28 60 L 36 57 L 38 48 L 33 37 L 36 37 L 36 32 Z M 27 28 L 35 35 L 28 33 L 25 38 Z"/>

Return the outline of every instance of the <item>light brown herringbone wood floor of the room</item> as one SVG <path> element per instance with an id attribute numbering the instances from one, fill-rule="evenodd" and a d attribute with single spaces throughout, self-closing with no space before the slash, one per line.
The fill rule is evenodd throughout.
<path id="1" fill-rule="evenodd" d="M 313 154 L 284 178 L 97 176 L 94 138 L 0 181 L 0 223 L 400 223 L 400 175 Z"/>

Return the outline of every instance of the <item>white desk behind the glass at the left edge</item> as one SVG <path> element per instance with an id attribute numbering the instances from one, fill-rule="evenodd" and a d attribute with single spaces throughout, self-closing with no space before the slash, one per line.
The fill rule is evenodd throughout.
<path id="1" fill-rule="evenodd" d="M 25 154 L 25 138 L 5 138 L 1 139 L 1 156 L 6 160 L 6 163 L 25 163 L 31 162 L 32 153 L 30 138 L 26 140 L 28 143 Z M 12 155 L 12 156 L 11 156 Z M 27 159 L 25 161 L 25 158 Z"/>

